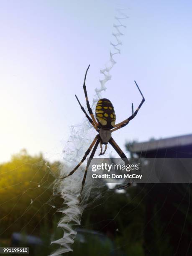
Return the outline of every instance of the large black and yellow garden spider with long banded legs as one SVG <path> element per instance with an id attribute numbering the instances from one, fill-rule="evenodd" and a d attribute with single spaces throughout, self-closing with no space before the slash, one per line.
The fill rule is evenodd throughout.
<path id="1" fill-rule="evenodd" d="M 88 71 L 89 67 L 90 67 L 90 65 L 88 66 L 87 71 Z M 107 144 L 110 143 L 111 146 L 118 153 L 120 158 L 123 159 L 125 164 L 129 163 L 129 161 L 128 161 L 127 157 L 125 156 L 125 154 L 123 153 L 123 151 L 120 149 L 118 144 L 112 138 L 111 133 L 113 133 L 114 131 L 117 131 L 118 129 L 120 129 L 122 127 L 124 127 L 125 125 L 128 125 L 129 121 L 131 121 L 137 115 L 138 110 L 141 108 L 141 106 L 143 105 L 143 102 L 145 101 L 141 90 L 139 89 L 136 81 L 134 81 L 138 90 L 139 90 L 139 92 L 141 93 L 141 96 L 142 96 L 141 103 L 139 104 L 136 111 L 133 112 L 133 103 L 132 103 L 132 115 L 129 118 L 123 120 L 122 122 L 120 122 L 118 124 L 115 124 L 116 115 L 115 115 L 115 110 L 113 108 L 113 105 L 110 102 L 110 100 L 103 98 L 103 99 L 98 100 L 97 105 L 96 105 L 96 109 L 95 109 L 95 116 L 96 116 L 96 119 L 97 119 L 96 120 L 93 113 L 92 113 L 92 109 L 90 108 L 90 103 L 89 103 L 89 100 L 88 100 L 88 97 L 87 97 L 87 89 L 86 89 L 86 85 L 85 85 L 85 80 L 86 80 L 86 77 L 87 77 L 87 71 L 86 71 L 85 76 L 84 76 L 83 89 L 84 89 L 84 95 L 85 95 L 85 99 L 86 99 L 86 103 L 87 103 L 87 109 L 90 113 L 90 116 L 86 113 L 86 111 L 82 107 L 81 103 L 79 102 L 79 99 L 77 98 L 77 95 L 75 95 L 75 97 L 76 97 L 83 113 L 86 115 L 89 122 L 93 125 L 93 127 L 95 128 L 95 130 L 99 134 L 97 134 L 97 136 L 95 136 L 94 140 L 92 141 L 90 147 L 85 152 L 85 154 L 84 154 L 82 160 L 79 162 L 79 164 L 77 164 L 77 166 L 67 176 L 62 177 L 62 178 L 58 178 L 58 179 L 65 179 L 65 178 L 69 177 L 70 175 L 72 175 L 79 168 L 79 166 L 84 162 L 84 160 L 86 159 L 86 157 L 88 156 L 88 154 L 90 153 L 90 151 L 93 148 L 92 153 L 90 155 L 90 158 L 87 161 L 87 166 L 86 166 L 86 169 L 85 169 L 85 172 L 84 172 L 84 177 L 83 177 L 83 180 L 82 180 L 81 193 L 82 193 L 84 182 L 85 182 L 85 179 L 86 179 L 86 176 L 87 176 L 87 170 L 90 166 L 91 160 L 93 159 L 93 156 L 95 155 L 95 151 L 96 151 L 97 146 L 99 144 L 100 144 L 100 148 L 101 148 L 101 152 L 100 152 L 99 155 L 105 154 L 105 151 L 107 150 Z M 102 144 L 105 145 L 105 150 L 103 152 L 102 152 Z M 125 186 L 119 187 L 118 189 L 121 189 L 123 187 L 128 187 L 129 185 L 130 184 L 127 184 Z"/>

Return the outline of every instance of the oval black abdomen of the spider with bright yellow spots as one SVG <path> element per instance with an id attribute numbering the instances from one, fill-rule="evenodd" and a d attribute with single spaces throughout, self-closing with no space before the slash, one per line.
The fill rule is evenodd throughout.
<path id="1" fill-rule="evenodd" d="M 100 99 L 97 102 L 95 115 L 102 128 L 112 129 L 115 125 L 115 110 L 108 99 Z"/>

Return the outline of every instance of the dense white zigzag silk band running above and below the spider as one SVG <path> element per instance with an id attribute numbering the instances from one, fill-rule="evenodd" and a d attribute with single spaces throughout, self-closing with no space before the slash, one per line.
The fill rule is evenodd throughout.
<path id="1" fill-rule="evenodd" d="M 104 78 L 100 79 L 100 88 L 95 89 L 96 94 L 93 98 L 92 108 L 95 108 L 96 102 L 101 97 L 101 93 L 107 89 L 105 87 L 106 82 L 111 79 L 110 70 L 113 68 L 114 64 L 116 64 L 113 56 L 115 54 L 120 54 L 120 49 L 118 48 L 122 45 L 120 37 L 124 35 L 120 31 L 120 28 L 126 28 L 126 26 L 121 23 L 121 20 L 127 18 L 128 16 L 122 12 L 122 9 L 117 9 L 115 20 L 118 24 L 113 24 L 115 31 L 112 33 L 113 37 L 115 37 L 115 43 L 110 42 L 110 45 L 113 46 L 113 50 L 110 50 L 110 60 L 105 64 L 105 68 L 100 70 L 100 73 L 104 75 Z M 67 168 L 61 166 L 61 177 L 66 176 L 66 174 L 69 173 L 69 170 L 72 170 L 81 161 L 84 152 L 87 151 L 87 148 L 94 138 L 93 131 L 95 130 L 92 128 L 92 125 L 90 125 L 85 118 L 81 124 L 71 126 L 71 134 L 64 150 L 64 161 L 67 163 Z M 68 169 L 68 167 L 70 168 Z M 81 215 L 84 208 L 87 206 L 86 202 L 90 196 L 90 192 L 95 191 L 91 181 L 88 181 L 87 179 L 87 185 L 85 184 L 83 189 L 83 198 L 80 201 L 79 192 L 81 189 L 82 177 L 83 175 L 79 176 L 78 172 L 75 172 L 71 177 L 62 180 L 59 184 L 55 184 L 54 193 L 61 194 L 67 208 L 64 210 L 61 209 L 63 217 L 58 224 L 59 227 L 64 229 L 64 236 L 56 241 L 52 241 L 52 243 L 57 243 L 62 248 L 51 254 L 52 256 L 72 251 L 71 244 L 74 242 L 74 238 L 77 234 L 77 232 L 73 230 L 74 225 L 78 226 L 80 224 Z M 97 194 L 92 195 L 95 199 L 99 196 L 99 191 L 97 191 Z M 67 214 L 68 212 L 69 214 Z M 72 223 L 72 225 L 70 223 Z"/>

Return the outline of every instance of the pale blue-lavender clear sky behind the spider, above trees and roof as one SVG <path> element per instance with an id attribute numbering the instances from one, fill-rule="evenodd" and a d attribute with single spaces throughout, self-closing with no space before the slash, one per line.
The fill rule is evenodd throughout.
<path id="1" fill-rule="evenodd" d="M 82 121 L 74 97 L 90 101 L 100 69 L 109 60 L 116 3 L 125 12 L 121 55 L 103 97 L 117 122 L 146 102 L 129 125 L 114 134 L 125 141 L 192 133 L 192 2 L 189 0 L 1 0 L 0 162 L 26 148 L 61 159 L 69 126 Z"/>

